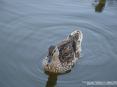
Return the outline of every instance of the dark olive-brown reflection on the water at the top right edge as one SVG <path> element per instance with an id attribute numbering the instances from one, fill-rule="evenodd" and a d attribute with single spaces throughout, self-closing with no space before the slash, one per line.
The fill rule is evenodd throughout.
<path id="1" fill-rule="evenodd" d="M 102 12 L 105 7 L 106 0 L 95 0 L 95 3 L 97 3 L 95 5 L 95 12 Z"/>

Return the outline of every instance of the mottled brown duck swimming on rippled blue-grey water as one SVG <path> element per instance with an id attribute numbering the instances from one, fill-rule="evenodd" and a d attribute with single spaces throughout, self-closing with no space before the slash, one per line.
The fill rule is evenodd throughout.
<path id="1" fill-rule="evenodd" d="M 52 73 L 70 71 L 80 57 L 83 34 L 76 30 L 56 46 L 50 46 L 43 60 L 44 70 Z"/>

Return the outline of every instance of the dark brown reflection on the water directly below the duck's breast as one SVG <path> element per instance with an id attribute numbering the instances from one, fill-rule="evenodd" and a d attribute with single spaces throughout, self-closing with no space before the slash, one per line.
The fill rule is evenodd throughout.
<path id="1" fill-rule="evenodd" d="M 48 80 L 46 82 L 46 86 L 45 87 L 55 87 L 56 84 L 57 84 L 57 77 L 58 75 L 57 74 L 53 74 L 53 73 L 47 73 L 46 74 L 48 75 Z"/>

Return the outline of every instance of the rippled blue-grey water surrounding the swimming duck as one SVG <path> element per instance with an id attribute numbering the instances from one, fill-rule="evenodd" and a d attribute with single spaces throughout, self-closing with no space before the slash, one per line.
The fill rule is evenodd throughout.
<path id="1" fill-rule="evenodd" d="M 80 60 L 48 77 L 48 47 L 76 29 L 84 34 Z M 117 81 L 117 0 L 0 0 L 0 87 L 86 87 L 82 81 Z"/>

